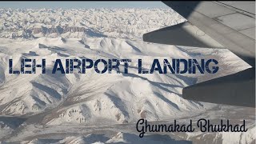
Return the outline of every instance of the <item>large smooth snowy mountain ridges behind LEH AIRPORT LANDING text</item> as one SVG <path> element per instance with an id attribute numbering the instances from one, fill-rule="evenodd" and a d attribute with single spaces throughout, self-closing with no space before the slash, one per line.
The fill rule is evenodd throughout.
<path id="1" fill-rule="evenodd" d="M 68 38 L 65 42 L 63 38 L 38 38 L 22 42 L 10 40 L 10 43 L 2 44 L 1 51 L 4 71 L 0 97 L 4 105 L 2 114 L 32 115 L 58 106 L 52 113 L 50 124 L 90 123 L 96 119 L 126 123 L 138 118 L 178 117 L 184 115 L 181 112 L 204 108 L 198 102 L 181 97 L 182 87 L 190 85 L 195 78 L 138 74 L 138 58 L 142 58 L 145 68 L 149 68 L 154 58 L 194 57 L 179 47 L 122 38 Z M 37 62 L 45 58 L 46 74 L 9 74 L 10 58 L 13 58 L 14 69 L 20 67 L 21 58 L 35 58 Z M 98 74 L 94 69 L 86 74 L 78 74 L 76 70 L 74 74 L 51 74 L 57 58 L 132 58 L 132 62 L 129 74 L 123 71 L 122 74 Z"/>

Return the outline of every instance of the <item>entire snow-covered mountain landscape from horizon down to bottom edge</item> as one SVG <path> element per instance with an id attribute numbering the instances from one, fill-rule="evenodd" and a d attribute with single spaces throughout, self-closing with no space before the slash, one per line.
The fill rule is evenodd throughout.
<path id="1" fill-rule="evenodd" d="M 247 118 L 250 131 L 234 142 L 253 142 L 252 109 L 216 106 L 182 98 L 182 88 L 250 67 L 229 50 L 169 46 L 142 41 L 142 34 L 186 21 L 171 9 L 0 10 L 0 138 L 6 142 L 159 142 L 161 135 L 136 138 L 139 118 L 169 121 L 206 117 Z M 9 74 L 21 58 L 46 59 L 46 74 Z M 57 58 L 131 58 L 129 74 L 51 74 Z M 138 74 L 138 58 L 216 58 L 217 74 Z M 230 116 L 230 110 L 234 115 Z M 236 114 L 245 114 L 239 117 Z M 9 122 L 10 118 L 17 119 Z M 70 126 L 70 127 L 69 127 Z M 73 127 L 72 127 L 73 126 Z M 81 126 L 81 131 L 79 127 Z M 92 126 L 82 132 L 82 126 Z M 102 127 L 101 127 L 102 126 Z M 121 127 L 119 127 L 121 126 Z M 127 126 L 123 128 L 122 126 Z M 110 135 L 108 132 L 111 131 Z M 49 134 L 54 138 L 48 138 Z M 59 134 L 64 134 L 59 136 Z M 66 134 L 66 135 L 65 135 Z M 78 134 L 70 136 L 70 134 Z M 184 134 L 171 138 L 226 142 L 232 134 Z M 160 139 L 159 139 L 160 138 Z M 181 142 L 186 142 L 181 140 Z M 162 142 L 166 142 L 163 141 Z"/>

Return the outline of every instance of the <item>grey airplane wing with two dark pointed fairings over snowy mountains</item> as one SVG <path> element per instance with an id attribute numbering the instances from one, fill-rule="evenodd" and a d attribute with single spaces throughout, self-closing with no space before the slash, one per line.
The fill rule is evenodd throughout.
<path id="1" fill-rule="evenodd" d="M 255 107 L 255 2 L 175 2 L 167 6 L 187 22 L 143 35 L 145 42 L 226 48 L 252 68 L 182 90 L 183 98 Z"/>

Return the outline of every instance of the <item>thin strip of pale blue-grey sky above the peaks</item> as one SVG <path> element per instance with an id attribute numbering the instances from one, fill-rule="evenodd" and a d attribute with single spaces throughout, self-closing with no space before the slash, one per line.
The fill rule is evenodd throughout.
<path id="1" fill-rule="evenodd" d="M 63 8 L 63 9 L 72 9 L 72 8 L 168 8 L 161 1 L 48 1 L 48 2 L 30 2 L 30 1 L 1 1 L 0 8 Z"/>

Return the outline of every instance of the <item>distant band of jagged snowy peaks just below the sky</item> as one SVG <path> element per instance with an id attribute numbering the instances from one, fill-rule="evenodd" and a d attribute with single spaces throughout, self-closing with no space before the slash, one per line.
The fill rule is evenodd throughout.
<path id="1" fill-rule="evenodd" d="M 108 36 L 142 38 L 142 34 L 185 19 L 171 9 L 0 9 L 1 38 Z"/>

